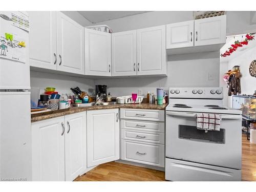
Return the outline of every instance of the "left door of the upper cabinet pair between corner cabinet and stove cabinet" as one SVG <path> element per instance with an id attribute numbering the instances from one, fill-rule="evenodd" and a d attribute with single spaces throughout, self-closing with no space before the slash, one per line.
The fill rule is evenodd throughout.
<path id="1" fill-rule="evenodd" d="M 136 30 L 112 34 L 112 76 L 137 75 Z"/>

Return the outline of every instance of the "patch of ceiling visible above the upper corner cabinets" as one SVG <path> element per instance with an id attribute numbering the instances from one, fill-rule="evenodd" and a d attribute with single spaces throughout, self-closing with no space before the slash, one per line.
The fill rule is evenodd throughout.
<path id="1" fill-rule="evenodd" d="M 137 15 L 149 11 L 78 11 L 84 18 L 88 19 L 91 23 L 105 22 L 121 17 Z"/>

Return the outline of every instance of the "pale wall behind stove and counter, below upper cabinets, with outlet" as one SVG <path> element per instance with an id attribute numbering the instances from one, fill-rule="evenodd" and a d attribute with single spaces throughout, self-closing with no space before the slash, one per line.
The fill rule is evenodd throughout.
<path id="1" fill-rule="evenodd" d="M 173 55 L 168 57 L 167 77 L 130 77 L 95 80 L 96 84 L 108 86 L 113 96 L 130 95 L 142 91 L 156 93 L 157 87 L 218 87 L 219 86 L 219 52 Z M 208 73 L 214 80 L 208 80 Z"/>

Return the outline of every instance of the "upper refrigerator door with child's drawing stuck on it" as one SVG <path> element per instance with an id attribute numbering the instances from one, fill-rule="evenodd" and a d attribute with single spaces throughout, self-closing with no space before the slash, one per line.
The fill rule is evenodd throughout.
<path id="1" fill-rule="evenodd" d="M 9 15 L 10 12 L 4 11 L 1 12 L 2 15 Z M 18 14 L 23 14 L 18 12 Z M 11 59 L 7 59 L 4 57 L 0 57 L 0 90 L 23 90 L 30 89 L 30 69 L 29 69 L 29 34 L 28 31 L 20 29 L 12 25 L 11 20 L 6 20 L 0 16 L 0 39 L 5 40 L 6 42 L 0 41 L 0 54 L 2 51 L 1 45 L 4 44 L 7 46 L 8 52 L 6 54 L 10 54 L 12 48 L 8 44 L 8 41 L 11 43 L 10 39 L 6 39 L 5 33 L 9 33 L 13 35 L 13 39 L 15 36 L 22 37 L 25 41 L 26 45 L 26 54 L 25 54 L 25 63 L 19 62 Z M 5 47 L 5 46 L 2 47 Z"/>

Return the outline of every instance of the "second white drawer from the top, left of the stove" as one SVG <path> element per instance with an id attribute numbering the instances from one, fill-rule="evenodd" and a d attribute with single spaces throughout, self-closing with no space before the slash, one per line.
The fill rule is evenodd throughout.
<path id="1" fill-rule="evenodd" d="M 126 130 L 164 133 L 164 122 L 121 119 L 121 128 Z"/>

